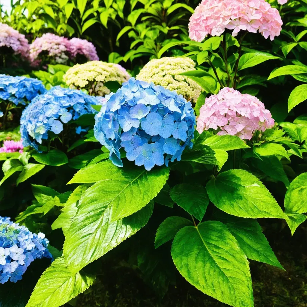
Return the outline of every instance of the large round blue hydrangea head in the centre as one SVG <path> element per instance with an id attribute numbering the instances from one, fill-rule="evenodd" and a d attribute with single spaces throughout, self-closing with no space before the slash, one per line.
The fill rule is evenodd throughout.
<path id="1" fill-rule="evenodd" d="M 130 78 L 106 98 L 95 115 L 94 134 L 113 164 L 122 166 L 121 147 L 128 160 L 146 170 L 180 161 L 185 147 L 192 148 L 194 110 L 176 91 Z"/>

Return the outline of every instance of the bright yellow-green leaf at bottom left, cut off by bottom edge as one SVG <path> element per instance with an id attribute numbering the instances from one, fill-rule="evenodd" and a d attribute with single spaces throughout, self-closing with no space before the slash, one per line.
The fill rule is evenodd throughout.
<path id="1" fill-rule="evenodd" d="M 64 257 L 56 258 L 38 280 L 26 307 L 59 307 L 89 288 L 94 275 L 72 273 Z"/>

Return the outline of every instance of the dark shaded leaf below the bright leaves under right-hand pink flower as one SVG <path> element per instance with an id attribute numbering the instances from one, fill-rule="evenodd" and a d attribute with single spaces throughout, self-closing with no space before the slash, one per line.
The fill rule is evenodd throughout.
<path id="1" fill-rule="evenodd" d="M 286 187 L 289 186 L 290 182 L 282 166 L 282 162 L 279 161 L 276 156 L 262 157 L 262 160 L 256 159 L 255 166 L 260 169 L 267 176 L 282 181 Z"/>

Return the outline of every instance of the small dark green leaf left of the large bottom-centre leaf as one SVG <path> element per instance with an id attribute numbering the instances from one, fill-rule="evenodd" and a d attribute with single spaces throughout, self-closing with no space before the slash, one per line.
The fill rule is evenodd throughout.
<path id="1" fill-rule="evenodd" d="M 157 229 L 156 237 L 154 240 L 154 247 L 158 248 L 162 244 L 172 240 L 176 233 L 185 226 L 193 225 L 192 221 L 189 221 L 181 216 L 170 216 L 165 219 Z"/>

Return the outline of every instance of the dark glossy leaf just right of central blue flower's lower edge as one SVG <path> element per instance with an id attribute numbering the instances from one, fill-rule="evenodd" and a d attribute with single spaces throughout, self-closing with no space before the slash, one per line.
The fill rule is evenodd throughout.
<path id="1" fill-rule="evenodd" d="M 195 146 L 192 150 L 185 150 L 182 153 L 181 160 L 203 164 L 218 164 L 214 150 L 212 150 L 207 145 L 198 145 Z"/>

